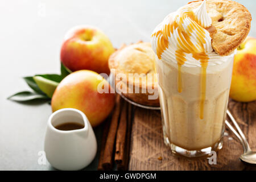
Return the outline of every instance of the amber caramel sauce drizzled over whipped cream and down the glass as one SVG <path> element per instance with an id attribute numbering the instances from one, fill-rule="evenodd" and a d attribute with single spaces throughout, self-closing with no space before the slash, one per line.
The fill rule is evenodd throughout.
<path id="1" fill-rule="evenodd" d="M 175 52 L 177 66 L 178 66 L 178 76 L 177 76 L 177 90 L 179 93 L 182 92 L 183 88 L 183 81 L 181 78 L 181 67 L 185 64 L 185 53 L 192 53 L 192 56 L 196 60 L 200 60 L 201 64 L 201 78 L 200 78 L 200 118 L 204 118 L 204 102 L 205 102 L 205 92 L 206 92 L 206 77 L 207 77 L 207 66 L 209 57 L 205 53 L 204 44 L 205 41 L 205 32 L 204 28 L 200 25 L 200 21 L 196 18 L 195 14 L 193 13 L 192 9 L 187 9 L 179 17 L 179 23 L 177 21 L 172 20 L 169 24 L 165 24 L 162 30 L 155 32 L 152 36 L 156 36 L 158 38 L 157 41 L 157 48 L 156 48 L 156 55 L 158 59 L 161 59 L 162 53 L 168 49 L 168 37 L 174 33 L 174 30 L 177 30 L 179 34 L 177 38 L 177 50 Z M 187 29 L 184 30 L 182 24 L 184 23 L 185 18 L 190 18 L 192 21 L 188 25 Z M 207 28 L 210 32 L 216 31 L 214 26 Z M 191 34 L 192 32 L 196 32 L 196 42 L 197 45 L 192 43 L 191 41 Z"/>

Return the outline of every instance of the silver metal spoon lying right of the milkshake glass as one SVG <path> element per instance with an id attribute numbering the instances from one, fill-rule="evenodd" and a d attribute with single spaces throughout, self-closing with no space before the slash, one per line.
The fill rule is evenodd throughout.
<path id="1" fill-rule="evenodd" d="M 226 125 L 229 127 L 229 129 L 231 131 L 233 131 L 233 133 L 237 136 L 237 138 L 240 140 L 240 142 L 242 143 L 243 146 L 243 154 L 240 156 L 240 159 L 243 162 L 249 163 L 249 164 L 256 164 L 256 152 L 251 151 L 251 148 L 249 146 L 249 143 L 246 140 L 245 135 L 243 134 L 242 130 L 240 129 L 240 127 L 238 126 L 236 120 L 234 119 L 234 117 L 232 116 L 232 114 L 230 113 L 229 110 L 226 111 L 226 113 L 228 113 L 229 118 L 231 119 L 231 121 L 234 123 L 234 126 L 236 126 L 237 131 L 230 125 L 230 123 L 228 121 L 225 121 Z"/>

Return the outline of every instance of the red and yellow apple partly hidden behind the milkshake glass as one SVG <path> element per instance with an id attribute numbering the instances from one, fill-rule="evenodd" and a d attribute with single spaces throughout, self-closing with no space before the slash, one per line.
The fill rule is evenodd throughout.
<path id="1" fill-rule="evenodd" d="M 234 56 L 230 97 L 240 102 L 256 100 L 256 38 L 247 37 Z"/>

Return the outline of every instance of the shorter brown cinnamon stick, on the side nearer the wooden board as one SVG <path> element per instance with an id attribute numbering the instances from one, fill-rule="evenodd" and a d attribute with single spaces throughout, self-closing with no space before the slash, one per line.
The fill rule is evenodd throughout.
<path id="1" fill-rule="evenodd" d="M 123 104 L 120 121 L 115 139 L 115 163 L 121 164 L 125 156 L 125 137 L 127 129 L 127 102 Z"/>

